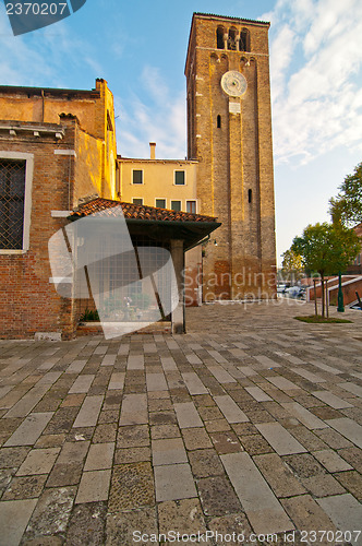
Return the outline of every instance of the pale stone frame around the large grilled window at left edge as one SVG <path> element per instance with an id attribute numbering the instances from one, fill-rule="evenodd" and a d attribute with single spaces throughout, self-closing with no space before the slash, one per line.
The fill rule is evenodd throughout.
<path id="1" fill-rule="evenodd" d="M 24 223 L 23 223 L 23 248 L 0 248 L 2 254 L 25 254 L 31 247 L 31 219 L 32 219 L 32 190 L 34 178 L 34 154 L 23 152 L 9 152 L 0 150 L 0 159 L 25 161 L 25 193 L 24 193 Z"/>

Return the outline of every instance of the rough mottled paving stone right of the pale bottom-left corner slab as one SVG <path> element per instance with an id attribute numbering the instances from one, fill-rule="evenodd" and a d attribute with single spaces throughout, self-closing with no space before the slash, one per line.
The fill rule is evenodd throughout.
<path id="1" fill-rule="evenodd" d="M 64 533 L 74 503 L 75 492 L 75 487 L 46 489 L 39 498 L 26 527 L 24 542 Z"/>

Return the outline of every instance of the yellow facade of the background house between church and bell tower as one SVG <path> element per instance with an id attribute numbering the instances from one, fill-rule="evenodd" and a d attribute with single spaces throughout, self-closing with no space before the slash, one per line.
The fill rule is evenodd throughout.
<path id="1" fill-rule="evenodd" d="M 119 195 L 128 203 L 135 202 L 161 209 L 174 209 L 174 202 L 177 202 L 180 203 L 180 211 L 198 213 L 196 168 L 197 162 L 194 161 L 119 157 Z M 184 183 L 177 183 L 182 179 Z M 137 183 L 140 180 L 142 183 Z M 142 203 L 135 200 L 142 200 Z"/>

